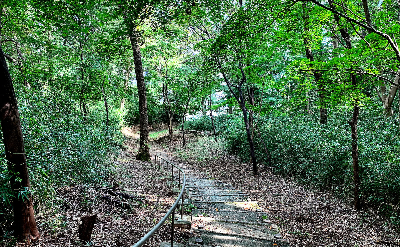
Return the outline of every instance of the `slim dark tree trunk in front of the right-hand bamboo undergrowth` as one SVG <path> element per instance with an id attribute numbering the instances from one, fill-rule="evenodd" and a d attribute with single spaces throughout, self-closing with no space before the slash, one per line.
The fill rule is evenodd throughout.
<path id="1" fill-rule="evenodd" d="M 336 9 L 336 7 L 333 5 L 332 0 L 328 0 L 328 3 L 331 8 Z M 340 18 L 337 14 L 334 14 L 334 18 L 336 23 L 338 24 L 340 34 L 342 35 L 342 38 L 346 42 L 346 48 L 351 49 L 352 48 L 352 42 L 350 40 L 350 35 L 348 34 L 347 28 L 344 28 L 342 26 L 342 23 L 340 22 Z M 356 74 L 351 73 L 350 74 L 351 82 L 354 86 L 357 85 L 356 82 Z M 358 139 L 357 139 L 357 124 L 358 124 L 358 115 L 360 114 L 360 106 L 358 104 L 358 100 L 354 100 L 354 106 L 353 106 L 353 117 L 350 120 L 349 124 L 351 127 L 352 131 L 352 160 L 353 160 L 353 183 L 354 183 L 354 208 L 356 210 L 361 209 L 361 199 L 360 199 L 360 185 L 361 185 L 361 180 L 360 180 L 360 167 L 358 165 Z"/>

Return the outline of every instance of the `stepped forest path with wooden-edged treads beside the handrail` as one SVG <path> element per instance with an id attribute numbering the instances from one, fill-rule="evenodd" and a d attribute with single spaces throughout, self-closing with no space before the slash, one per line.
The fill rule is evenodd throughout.
<path id="1" fill-rule="evenodd" d="M 139 138 L 138 134 L 132 133 L 130 129 L 126 131 L 124 133 L 126 136 Z M 164 131 L 152 131 L 150 135 Z M 150 146 L 153 163 L 154 155 L 168 161 L 170 158 L 175 158 L 173 153 L 166 152 L 162 145 L 159 145 L 156 138 L 150 140 Z M 183 217 L 181 220 L 179 210 L 177 210 L 178 215 L 175 216 L 176 226 L 185 224 L 187 221 L 191 222 L 192 234 L 186 246 L 198 246 L 196 243 L 198 239 L 202 239 L 203 245 L 220 247 L 289 246 L 287 240 L 280 239 L 278 226 L 271 224 L 265 209 L 256 201 L 252 201 L 246 193 L 229 183 L 217 181 L 216 178 L 202 173 L 193 166 L 184 163 L 174 164 L 186 174 L 185 198 L 189 199 L 185 200 L 185 204 L 193 205 L 192 214 L 187 218 Z M 166 174 L 166 169 L 163 170 Z M 169 167 L 168 173 L 170 172 Z M 177 185 L 178 179 L 178 170 L 174 169 L 172 185 Z M 166 177 L 166 181 L 168 185 L 171 185 L 170 175 Z M 170 240 L 166 238 L 165 242 L 170 242 Z M 161 244 L 162 247 L 164 245 L 170 246 L 166 243 Z M 181 245 L 174 244 L 174 246 Z"/>

